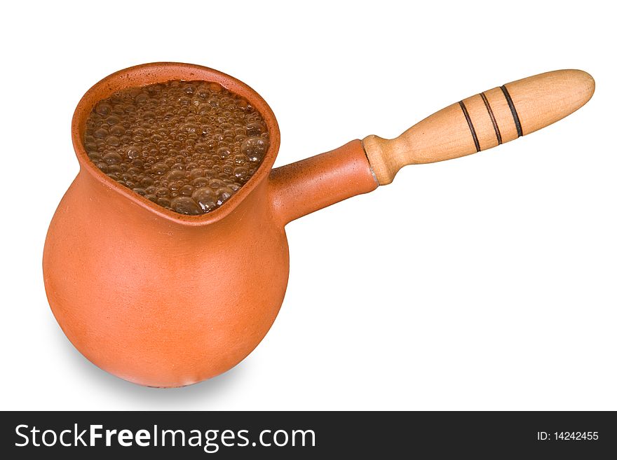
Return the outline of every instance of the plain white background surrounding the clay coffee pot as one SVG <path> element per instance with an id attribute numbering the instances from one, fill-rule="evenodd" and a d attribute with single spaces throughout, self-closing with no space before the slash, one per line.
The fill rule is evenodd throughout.
<path id="1" fill-rule="evenodd" d="M 617 410 L 611 2 L 26 1 L 2 6 L 2 409 Z M 48 307 L 46 230 L 78 171 L 75 105 L 153 61 L 240 78 L 277 165 L 543 71 L 597 89 L 556 125 L 287 226 L 280 314 L 243 363 L 150 389 L 88 362 Z"/>

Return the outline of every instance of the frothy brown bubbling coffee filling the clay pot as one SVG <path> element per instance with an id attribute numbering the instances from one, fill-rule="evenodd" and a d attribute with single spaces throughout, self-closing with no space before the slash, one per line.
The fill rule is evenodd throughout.
<path id="1" fill-rule="evenodd" d="M 198 215 L 255 174 L 269 132 L 250 102 L 218 83 L 168 81 L 98 102 L 83 144 L 111 179 L 162 207 Z"/>

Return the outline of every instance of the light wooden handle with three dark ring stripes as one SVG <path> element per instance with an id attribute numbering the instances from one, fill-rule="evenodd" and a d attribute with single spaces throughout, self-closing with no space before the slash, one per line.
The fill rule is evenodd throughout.
<path id="1" fill-rule="evenodd" d="M 581 70 L 556 70 L 507 83 L 433 113 L 395 139 L 362 139 L 381 185 L 405 165 L 432 163 L 499 146 L 561 120 L 595 89 Z"/>

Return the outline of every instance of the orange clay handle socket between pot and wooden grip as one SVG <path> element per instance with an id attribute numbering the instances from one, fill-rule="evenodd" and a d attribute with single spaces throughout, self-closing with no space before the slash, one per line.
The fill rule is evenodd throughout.
<path id="1" fill-rule="evenodd" d="M 273 211 L 283 225 L 379 186 L 359 140 L 273 169 L 269 181 Z"/>

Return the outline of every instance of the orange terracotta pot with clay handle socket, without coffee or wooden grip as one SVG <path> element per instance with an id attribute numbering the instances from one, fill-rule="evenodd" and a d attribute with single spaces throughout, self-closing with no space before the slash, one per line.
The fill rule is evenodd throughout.
<path id="1" fill-rule="evenodd" d="M 81 141 L 100 99 L 172 79 L 217 81 L 243 95 L 271 134 L 255 176 L 203 216 L 175 214 L 109 179 Z M 271 172 L 280 134 L 266 102 L 234 78 L 189 64 L 144 64 L 105 78 L 79 102 L 72 135 L 81 169 L 43 253 L 50 307 L 86 358 L 148 386 L 199 382 L 245 358 L 283 302 L 285 223 L 377 188 L 360 141 Z"/>

